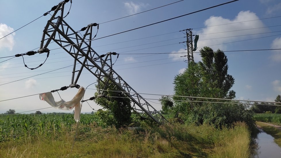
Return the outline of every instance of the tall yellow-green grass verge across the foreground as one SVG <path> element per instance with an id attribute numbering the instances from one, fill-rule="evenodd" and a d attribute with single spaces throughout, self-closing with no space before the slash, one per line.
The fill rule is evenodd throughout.
<path id="1" fill-rule="evenodd" d="M 0 143 L 0 157 L 66 157 L 74 131 Z M 172 124 L 138 130 L 81 125 L 70 157 L 250 157 L 243 123 L 231 129 Z"/>

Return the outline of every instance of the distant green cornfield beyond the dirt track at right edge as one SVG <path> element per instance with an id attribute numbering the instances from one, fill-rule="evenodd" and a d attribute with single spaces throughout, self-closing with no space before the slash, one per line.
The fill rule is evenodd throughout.
<path id="1" fill-rule="evenodd" d="M 254 119 L 260 122 L 268 122 L 278 125 L 281 124 L 281 114 L 276 114 L 276 113 L 255 114 Z"/>

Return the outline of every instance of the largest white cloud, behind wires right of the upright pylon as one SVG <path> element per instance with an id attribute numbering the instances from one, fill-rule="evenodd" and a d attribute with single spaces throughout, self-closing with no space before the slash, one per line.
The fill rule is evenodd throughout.
<path id="1" fill-rule="evenodd" d="M 206 27 L 200 31 L 197 32 L 194 31 L 193 34 L 199 34 L 199 41 L 197 46 L 198 47 L 210 46 L 211 48 L 213 48 L 214 51 L 217 50 L 218 48 L 221 50 L 225 50 L 227 49 L 227 46 L 231 44 L 224 44 L 224 45 L 217 45 L 217 44 L 257 37 L 259 35 L 238 36 L 238 35 L 256 34 L 256 33 L 265 32 L 266 31 L 265 28 L 260 28 L 265 26 L 263 22 L 261 20 L 255 20 L 255 19 L 259 19 L 259 17 L 256 16 L 256 14 L 251 11 L 240 11 L 233 20 L 225 19 L 221 16 L 219 17 L 211 16 L 209 19 L 205 21 L 205 26 L 215 26 L 215 25 L 219 25 L 219 26 Z M 249 21 L 249 20 L 255 20 L 255 21 L 242 22 L 242 21 Z M 234 23 L 234 24 L 220 25 L 220 24 L 228 24 L 228 23 Z M 260 29 L 252 29 L 252 28 L 260 28 Z M 243 29 L 251 29 L 251 30 L 243 30 Z M 234 31 L 234 30 L 242 30 L 242 31 Z M 232 31 L 232 32 L 226 32 L 226 31 Z M 223 33 L 217 33 L 217 32 L 223 32 Z M 229 36 L 236 36 L 236 37 L 229 37 Z M 228 38 L 221 38 L 221 37 L 228 37 Z M 211 40 L 207 40 L 207 39 L 211 39 Z M 197 50 L 200 50 L 200 48 Z"/>

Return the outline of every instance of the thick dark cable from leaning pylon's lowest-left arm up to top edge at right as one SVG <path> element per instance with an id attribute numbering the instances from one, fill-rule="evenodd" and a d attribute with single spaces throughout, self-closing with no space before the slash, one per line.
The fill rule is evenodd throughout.
<path id="1" fill-rule="evenodd" d="M 218 7 L 218 6 L 221 6 L 221 5 L 225 5 L 225 4 L 228 4 L 228 3 L 232 3 L 232 2 L 235 2 L 235 1 L 239 1 L 239 0 L 232 0 L 232 1 L 229 1 L 229 2 L 226 2 L 226 3 L 221 3 L 221 4 L 218 4 L 218 5 L 214 5 L 214 6 L 212 6 L 212 7 L 207 7 L 207 8 L 201 9 L 201 10 L 193 11 L 193 12 L 188 13 L 188 14 L 184 14 L 184 15 L 177 16 L 177 17 L 174 17 L 174 18 L 162 20 L 162 21 L 160 21 L 160 22 L 155 22 L 155 23 L 152 23 L 152 24 L 148 24 L 148 25 L 141 26 L 141 27 L 138 27 L 138 28 L 126 30 L 126 31 L 123 31 L 123 32 L 111 34 L 111 35 L 108 35 L 108 36 L 103 36 L 103 37 L 100 37 L 100 38 L 95 38 L 95 39 L 92 39 L 92 40 L 89 40 L 89 41 L 94 41 L 94 40 L 98 40 L 98 39 L 101 39 L 101 38 L 106 38 L 106 37 L 109 37 L 109 36 L 114 36 L 114 35 L 117 35 L 117 34 L 129 32 L 129 31 L 132 31 L 132 30 L 144 28 L 144 27 L 147 27 L 147 26 L 155 25 L 155 24 L 159 24 L 159 23 L 161 23 L 161 22 L 166 22 L 166 21 L 169 21 L 169 20 L 173 20 L 173 19 L 176 19 L 176 18 L 180 18 L 180 17 L 183 17 L 183 16 L 187 16 L 187 15 L 190 15 L 190 14 L 194 14 L 194 13 L 197 13 L 197 12 L 200 12 L 200 11 L 204 11 L 204 10 L 207 10 L 207 9 L 211 9 L 211 8 Z M 85 41 L 85 42 L 89 42 L 89 41 Z M 85 43 L 85 42 L 81 42 L 81 43 Z M 76 44 L 73 44 L 73 45 L 78 45 L 78 44 L 81 44 L 81 43 L 76 43 Z M 70 46 L 72 46 L 72 45 L 68 45 L 68 46 L 64 46 L 64 47 L 70 47 Z M 59 48 L 55 48 L 55 49 L 60 49 L 60 48 L 64 48 L 64 47 L 59 47 Z M 50 49 L 50 50 L 55 50 L 55 49 Z"/>

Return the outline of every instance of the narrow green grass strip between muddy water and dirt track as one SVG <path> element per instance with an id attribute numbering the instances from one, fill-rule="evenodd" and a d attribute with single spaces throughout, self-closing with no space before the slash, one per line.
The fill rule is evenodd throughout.
<path id="1" fill-rule="evenodd" d="M 279 147 L 281 147 L 281 130 L 279 130 L 275 127 L 272 127 L 272 126 L 268 126 L 267 124 L 265 124 L 263 122 L 256 122 L 256 124 L 258 126 L 261 126 L 261 128 L 263 129 L 264 132 L 273 136 L 274 142 L 276 144 L 278 144 Z"/>

